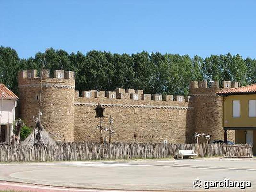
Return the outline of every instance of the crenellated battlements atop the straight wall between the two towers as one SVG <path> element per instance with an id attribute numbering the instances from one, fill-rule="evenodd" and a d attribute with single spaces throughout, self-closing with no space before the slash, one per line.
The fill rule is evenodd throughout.
<path id="1" fill-rule="evenodd" d="M 117 88 L 115 91 L 96 91 L 88 90 L 76 91 L 77 98 L 85 99 L 109 99 L 109 100 L 152 100 L 152 101 L 177 101 L 177 102 L 188 102 L 189 96 L 183 95 L 167 95 L 167 94 L 144 94 L 143 90 L 140 89 L 122 89 Z"/>

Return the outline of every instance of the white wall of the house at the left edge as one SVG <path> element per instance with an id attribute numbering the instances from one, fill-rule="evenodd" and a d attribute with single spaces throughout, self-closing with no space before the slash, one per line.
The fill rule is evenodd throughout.
<path id="1" fill-rule="evenodd" d="M 0 114 L 1 114 L 2 100 L 0 100 Z M 15 120 L 16 100 L 3 100 L 1 124 L 6 127 L 6 141 L 10 142 L 10 137 L 13 134 L 13 123 Z"/>

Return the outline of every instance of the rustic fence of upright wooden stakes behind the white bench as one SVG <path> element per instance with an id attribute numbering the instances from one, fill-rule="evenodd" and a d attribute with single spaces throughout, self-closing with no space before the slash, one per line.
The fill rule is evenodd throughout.
<path id="1" fill-rule="evenodd" d="M 252 146 L 243 144 L 58 143 L 34 147 L 0 145 L 0 162 L 171 158 L 180 149 L 194 149 L 197 157 L 252 157 Z"/>

